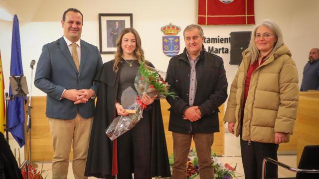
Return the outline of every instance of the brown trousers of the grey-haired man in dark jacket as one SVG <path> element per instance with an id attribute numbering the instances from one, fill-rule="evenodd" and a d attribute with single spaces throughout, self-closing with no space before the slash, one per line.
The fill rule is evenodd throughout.
<path id="1" fill-rule="evenodd" d="M 200 179 L 214 179 L 213 160 L 211 159 L 211 146 L 214 133 L 182 134 L 173 132 L 173 175 L 172 179 L 187 179 L 186 162 L 193 138 L 199 165 Z"/>

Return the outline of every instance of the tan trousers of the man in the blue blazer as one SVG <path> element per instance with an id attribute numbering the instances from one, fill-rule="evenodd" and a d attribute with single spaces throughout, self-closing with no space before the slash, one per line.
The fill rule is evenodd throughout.
<path id="1" fill-rule="evenodd" d="M 74 119 L 48 118 L 53 140 L 53 179 L 67 179 L 71 145 L 73 146 L 72 169 L 75 179 L 84 177 L 86 158 L 93 118 L 84 119 L 78 113 Z"/>

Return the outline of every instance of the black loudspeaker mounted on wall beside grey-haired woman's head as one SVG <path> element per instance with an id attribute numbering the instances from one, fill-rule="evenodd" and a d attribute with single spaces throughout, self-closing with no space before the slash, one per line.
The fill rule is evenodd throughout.
<path id="1" fill-rule="evenodd" d="M 230 32 L 230 65 L 240 65 L 242 53 L 248 48 L 251 31 Z"/>

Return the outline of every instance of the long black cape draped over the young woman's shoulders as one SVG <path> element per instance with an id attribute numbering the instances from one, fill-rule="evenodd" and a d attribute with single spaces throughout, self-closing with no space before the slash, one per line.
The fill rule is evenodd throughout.
<path id="1" fill-rule="evenodd" d="M 122 63 L 120 62 L 119 65 Z M 93 119 L 90 146 L 85 168 L 85 176 L 87 177 L 114 178 L 111 175 L 113 142 L 105 134 L 105 129 L 116 117 L 115 100 L 119 84 L 119 73 L 113 71 L 113 64 L 114 60 L 106 62 L 95 77 L 95 81 L 100 82 L 100 87 L 98 90 L 96 112 Z M 169 177 L 170 169 L 160 110 L 160 100 L 155 100 L 151 105 L 151 176 Z"/>

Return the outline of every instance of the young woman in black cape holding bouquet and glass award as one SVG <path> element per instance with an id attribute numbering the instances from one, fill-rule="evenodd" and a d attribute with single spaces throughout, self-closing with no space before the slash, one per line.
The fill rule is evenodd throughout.
<path id="1" fill-rule="evenodd" d="M 115 59 L 106 62 L 95 77 L 100 83 L 93 120 L 85 176 L 106 179 L 151 179 L 169 177 L 170 170 L 160 100 L 145 94 L 148 107 L 143 118 L 114 141 L 105 129 L 118 115 L 129 115 L 121 105 L 122 91 L 133 89 L 138 68 L 144 59 L 141 38 L 133 28 L 125 28 L 117 40 Z M 148 66 L 153 67 L 151 63 Z"/>

